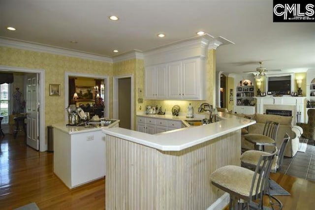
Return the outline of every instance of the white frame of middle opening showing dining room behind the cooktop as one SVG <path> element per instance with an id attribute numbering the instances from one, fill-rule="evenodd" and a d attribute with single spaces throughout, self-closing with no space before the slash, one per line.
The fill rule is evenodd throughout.
<path id="1" fill-rule="evenodd" d="M 64 72 L 64 120 L 68 121 L 68 112 L 66 108 L 69 106 L 69 76 L 70 77 L 89 77 L 94 79 L 103 79 L 105 83 L 105 115 L 104 118 L 109 118 L 109 77 L 98 74 L 84 74 L 77 72 Z"/>

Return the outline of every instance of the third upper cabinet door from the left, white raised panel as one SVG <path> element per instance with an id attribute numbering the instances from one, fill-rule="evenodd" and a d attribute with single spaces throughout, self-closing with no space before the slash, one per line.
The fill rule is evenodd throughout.
<path id="1" fill-rule="evenodd" d="M 173 62 L 167 65 L 168 98 L 182 98 L 181 71 L 181 62 Z"/>

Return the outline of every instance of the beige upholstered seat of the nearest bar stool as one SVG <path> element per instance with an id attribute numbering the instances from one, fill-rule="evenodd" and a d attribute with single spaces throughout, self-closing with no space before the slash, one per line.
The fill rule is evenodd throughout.
<path id="1" fill-rule="evenodd" d="M 210 179 L 213 183 L 225 188 L 226 190 L 224 191 L 226 192 L 236 192 L 245 197 L 249 197 L 253 175 L 254 172 L 247 168 L 228 165 L 217 169 L 211 174 Z M 256 177 L 256 181 L 257 180 L 258 177 Z M 255 189 L 253 189 L 252 193 L 256 194 Z"/>

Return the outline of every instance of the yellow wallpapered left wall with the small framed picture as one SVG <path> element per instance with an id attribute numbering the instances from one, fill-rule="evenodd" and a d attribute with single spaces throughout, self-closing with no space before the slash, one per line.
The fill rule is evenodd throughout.
<path id="1" fill-rule="evenodd" d="M 0 65 L 45 70 L 45 126 L 64 121 L 64 72 L 108 75 L 112 101 L 112 63 L 0 47 Z M 49 96 L 49 84 L 61 84 L 61 96 Z M 112 104 L 109 107 L 112 115 Z"/>

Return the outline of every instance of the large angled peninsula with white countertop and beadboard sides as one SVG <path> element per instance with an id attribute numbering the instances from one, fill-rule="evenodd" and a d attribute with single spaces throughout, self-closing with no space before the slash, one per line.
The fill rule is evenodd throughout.
<path id="1" fill-rule="evenodd" d="M 158 135 L 103 129 L 105 208 L 214 208 L 223 192 L 211 185 L 209 176 L 222 166 L 240 165 L 241 128 L 255 123 L 227 113 L 219 118 Z"/>

